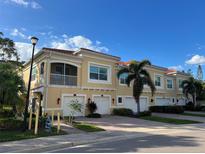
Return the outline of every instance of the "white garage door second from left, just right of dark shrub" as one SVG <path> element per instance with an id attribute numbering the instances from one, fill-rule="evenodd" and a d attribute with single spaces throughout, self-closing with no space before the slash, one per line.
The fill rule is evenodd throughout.
<path id="1" fill-rule="evenodd" d="M 111 100 L 109 96 L 94 96 L 93 100 L 97 105 L 96 113 L 110 114 Z"/>

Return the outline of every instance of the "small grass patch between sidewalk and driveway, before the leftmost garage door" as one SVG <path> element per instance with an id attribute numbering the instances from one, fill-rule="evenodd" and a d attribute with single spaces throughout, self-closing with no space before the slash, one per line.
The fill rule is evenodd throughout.
<path id="1" fill-rule="evenodd" d="M 102 128 L 99 128 L 97 126 L 94 126 L 94 125 L 91 125 L 91 124 L 87 124 L 87 123 L 76 122 L 76 123 L 73 123 L 73 126 L 75 128 L 78 128 L 78 129 L 82 130 L 82 131 L 85 131 L 85 132 L 105 131 Z"/>

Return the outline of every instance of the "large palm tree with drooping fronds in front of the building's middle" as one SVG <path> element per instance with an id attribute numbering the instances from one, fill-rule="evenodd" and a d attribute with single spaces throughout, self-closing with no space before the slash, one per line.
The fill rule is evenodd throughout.
<path id="1" fill-rule="evenodd" d="M 149 73 L 144 69 L 145 65 L 151 65 L 150 61 L 143 60 L 140 63 L 131 61 L 128 67 L 122 67 L 117 73 L 118 78 L 120 78 L 120 75 L 123 73 L 128 73 L 128 77 L 126 78 L 128 87 L 131 81 L 133 81 L 133 97 L 137 103 L 138 113 L 140 113 L 140 95 L 143 92 L 144 85 L 147 84 L 150 87 L 152 96 L 156 90 Z"/>

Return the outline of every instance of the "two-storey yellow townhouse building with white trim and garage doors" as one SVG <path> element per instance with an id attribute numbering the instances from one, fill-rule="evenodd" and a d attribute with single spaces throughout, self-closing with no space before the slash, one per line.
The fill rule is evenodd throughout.
<path id="1" fill-rule="evenodd" d="M 117 78 L 122 65 L 120 57 L 81 48 L 78 51 L 42 48 L 34 56 L 30 102 L 37 101 L 46 113 L 61 110 L 63 116 L 71 112 L 69 104 L 76 100 L 87 114 L 86 104 L 94 101 L 97 113 L 110 114 L 113 108 L 130 108 L 137 112 L 132 86 L 127 87 L 126 76 Z M 23 79 L 27 86 L 30 62 L 24 65 Z M 189 75 L 159 66 L 146 66 L 157 88 L 151 96 L 144 86 L 140 98 L 141 111 L 153 105 L 184 105 L 181 82 Z"/>

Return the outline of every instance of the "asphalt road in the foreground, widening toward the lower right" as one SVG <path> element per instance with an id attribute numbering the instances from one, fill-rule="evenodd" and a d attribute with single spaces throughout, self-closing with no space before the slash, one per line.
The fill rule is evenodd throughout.
<path id="1" fill-rule="evenodd" d="M 193 130 L 174 134 L 151 135 L 127 140 L 87 144 L 56 149 L 57 153 L 104 153 L 104 152 L 205 152 L 205 132 Z"/>

